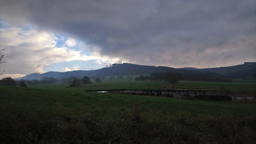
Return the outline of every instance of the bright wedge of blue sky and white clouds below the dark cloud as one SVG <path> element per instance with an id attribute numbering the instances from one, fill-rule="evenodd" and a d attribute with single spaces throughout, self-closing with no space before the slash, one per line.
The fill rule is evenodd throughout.
<path id="1" fill-rule="evenodd" d="M 88 45 L 64 34 L 40 31 L 33 26 L 10 26 L 0 20 L 0 43 L 6 63 L 5 76 L 18 77 L 48 71 L 100 69 L 120 58 L 100 54 L 100 47 Z"/>

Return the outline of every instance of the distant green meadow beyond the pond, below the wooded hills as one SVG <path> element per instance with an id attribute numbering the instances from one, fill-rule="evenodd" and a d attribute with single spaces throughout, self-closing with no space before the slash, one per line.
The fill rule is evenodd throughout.
<path id="1" fill-rule="evenodd" d="M 110 80 L 106 77 L 102 83 L 82 85 L 76 88 L 66 88 L 68 84 L 52 84 L 52 85 L 30 85 L 33 88 L 42 89 L 58 89 L 62 91 L 84 91 L 95 89 L 166 89 L 169 83 L 167 82 L 150 82 L 150 81 L 122 81 Z M 235 79 L 234 82 L 207 82 L 207 81 L 187 81 L 180 80 L 173 89 L 186 90 L 210 90 L 223 91 L 229 94 L 248 94 L 255 95 L 256 81 Z"/>

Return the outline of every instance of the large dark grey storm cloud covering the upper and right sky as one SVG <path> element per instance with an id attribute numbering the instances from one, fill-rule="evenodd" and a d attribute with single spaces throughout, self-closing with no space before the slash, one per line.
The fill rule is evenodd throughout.
<path id="1" fill-rule="evenodd" d="M 1 18 L 138 64 L 217 67 L 256 60 L 255 0 L 4 0 Z"/>

